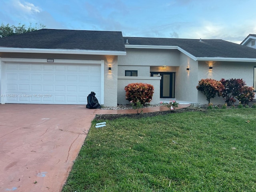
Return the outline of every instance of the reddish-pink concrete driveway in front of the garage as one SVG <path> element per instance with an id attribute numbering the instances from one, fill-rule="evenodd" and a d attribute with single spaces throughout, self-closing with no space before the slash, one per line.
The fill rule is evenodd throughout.
<path id="1" fill-rule="evenodd" d="M 0 104 L 0 191 L 59 192 L 94 111 L 85 105 Z"/>

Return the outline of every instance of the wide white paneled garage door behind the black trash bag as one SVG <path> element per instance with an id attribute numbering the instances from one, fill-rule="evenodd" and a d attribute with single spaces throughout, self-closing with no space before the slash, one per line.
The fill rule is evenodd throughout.
<path id="1" fill-rule="evenodd" d="M 6 103 L 87 104 L 91 91 L 101 100 L 100 64 L 5 65 Z"/>

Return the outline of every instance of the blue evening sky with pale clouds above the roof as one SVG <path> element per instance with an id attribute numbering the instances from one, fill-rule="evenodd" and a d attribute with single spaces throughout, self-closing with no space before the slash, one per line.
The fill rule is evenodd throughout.
<path id="1" fill-rule="evenodd" d="M 256 34 L 256 0 L 0 0 L 0 24 L 121 31 L 123 36 L 222 39 Z"/>

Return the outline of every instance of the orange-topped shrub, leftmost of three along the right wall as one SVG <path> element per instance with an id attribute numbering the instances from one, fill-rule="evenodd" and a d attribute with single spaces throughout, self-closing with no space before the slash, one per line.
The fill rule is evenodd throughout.
<path id="1" fill-rule="evenodd" d="M 206 96 L 206 100 L 210 103 L 210 98 L 214 98 L 216 95 L 222 96 L 224 86 L 220 81 L 207 78 L 201 79 L 196 88 Z"/>

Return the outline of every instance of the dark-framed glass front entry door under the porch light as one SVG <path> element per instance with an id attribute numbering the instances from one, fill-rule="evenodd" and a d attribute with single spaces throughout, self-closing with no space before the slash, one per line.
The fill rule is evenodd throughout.
<path id="1" fill-rule="evenodd" d="M 160 80 L 160 98 L 175 98 L 175 73 L 174 72 L 150 72 L 151 76 L 162 76 Z"/>

